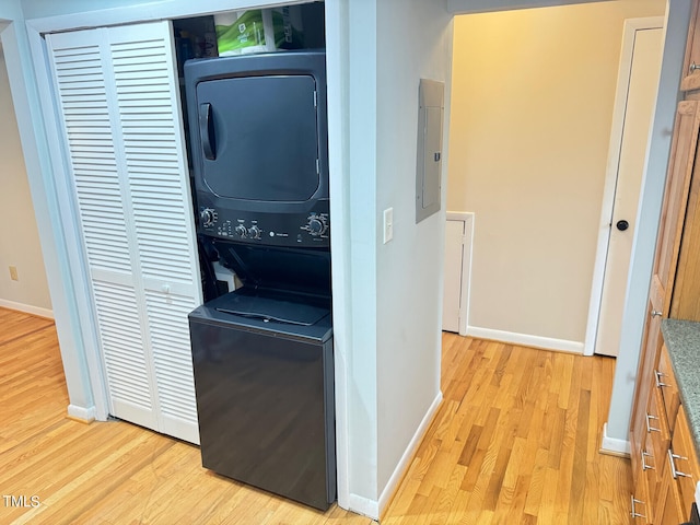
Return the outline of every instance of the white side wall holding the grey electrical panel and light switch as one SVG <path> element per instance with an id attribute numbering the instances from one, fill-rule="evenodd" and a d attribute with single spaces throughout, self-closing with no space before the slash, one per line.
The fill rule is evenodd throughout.
<path id="1" fill-rule="evenodd" d="M 378 1 L 376 55 L 378 154 L 371 238 L 377 254 L 377 475 L 386 498 L 406 466 L 399 462 L 410 462 L 410 455 L 402 456 L 411 452 L 411 439 L 421 438 L 421 422 L 428 422 L 441 399 L 446 180 L 443 174 L 440 212 L 416 224 L 416 161 L 421 78 L 445 83 L 448 129 L 452 16 L 432 0 Z M 447 142 L 444 133 L 443 171 Z M 394 209 L 394 238 L 383 244 L 387 208 Z"/>

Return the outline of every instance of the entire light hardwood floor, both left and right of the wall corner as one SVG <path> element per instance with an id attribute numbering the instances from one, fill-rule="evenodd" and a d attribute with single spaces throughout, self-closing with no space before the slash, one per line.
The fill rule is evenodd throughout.
<path id="1" fill-rule="evenodd" d="M 444 335 L 445 399 L 382 524 L 628 524 L 629 460 L 597 453 L 614 363 Z M 0 308 L 0 524 L 374 523 L 215 476 L 198 447 L 139 427 L 72 421 L 67 405 L 54 325 Z"/>

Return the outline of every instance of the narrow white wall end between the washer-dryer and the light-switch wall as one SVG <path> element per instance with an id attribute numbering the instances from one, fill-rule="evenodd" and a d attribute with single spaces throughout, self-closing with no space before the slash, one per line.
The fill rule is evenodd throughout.
<path id="1" fill-rule="evenodd" d="M 346 278 L 352 346 L 348 349 L 348 442 L 350 509 L 377 513 L 377 275 L 376 275 L 376 7 L 374 0 L 348 1 L 347 133 L 349 141 Z M 330 175 L 335 178 L 334 174 Z M 337 179 L 336 179 L 337 182 Z M 332 180 L 331 180 L 332 185 Z M 337 194 L 336 194 L 337 196 Z M 331 222 L 338 228 L 332 209 Z M 337 230 L 336 230 L 337 231 Z M 335 242 L 339 240 L 336 237 Z M 332 252 L 335 259 L 336 252 Z M 334 267 L 337 277 L 338 269 Z M 347 282 L 347 281 L 346 281 Z M 338 289 L 334 282 L 334 303 Z M 334 317 L 336 317 L 334 313 Z M 360 429 L 363 429 L 360 431 Z"/>

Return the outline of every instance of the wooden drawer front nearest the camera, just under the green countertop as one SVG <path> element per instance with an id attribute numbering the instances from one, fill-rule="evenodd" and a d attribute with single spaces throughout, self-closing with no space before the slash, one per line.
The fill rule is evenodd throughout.
<path id="1" fill-rule="evenodd" d="M 677 482 L 679 489 L 684 520 L 688 520 L 690 505 L 696 498 L 696 487 L 700 480 L 700 466 L 696 454 L 692 434 L 682 406 L 678 410 L 676 429 L 673 433 L 670 448 L 667 453 L 668 474 Z"/>

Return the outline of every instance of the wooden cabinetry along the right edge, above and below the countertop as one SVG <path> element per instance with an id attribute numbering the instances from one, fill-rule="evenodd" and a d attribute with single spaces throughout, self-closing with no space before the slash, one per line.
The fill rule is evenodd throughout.
<path id="1" fill-rule="evenodd" d="M 700 90 L 700 1 L 693 2 L 681 90 Z M 688 520 L 700 476 L 663 317 L 700 320 L 700 102 L 678 104 L 656 240 L 644 338 L 637 374 L 630 444 L 634 523 Z"/>

